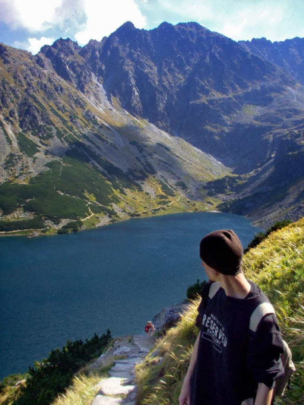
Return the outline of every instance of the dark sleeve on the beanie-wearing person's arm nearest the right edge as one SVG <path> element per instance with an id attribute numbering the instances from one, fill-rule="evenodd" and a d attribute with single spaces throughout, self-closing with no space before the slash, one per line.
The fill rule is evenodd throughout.
<path id="1" fill-rule="evenodd" d="M 274 381 L 284 375 L 280 354 L 284 352 L 282 337 L 275 315 L 261 320 L 251 336 L 247 367 L 256 382 L 273 388 Z"/>

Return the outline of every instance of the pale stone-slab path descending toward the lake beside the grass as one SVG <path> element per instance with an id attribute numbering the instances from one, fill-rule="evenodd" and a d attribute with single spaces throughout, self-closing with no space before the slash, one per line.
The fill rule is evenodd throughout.
<path id="1" fill-rule="evenodd" d="M 99 391 L 92 405 L 135 405 L 136 383 L 135 365 L 140 363 L 154 345 L 155 338 L 147 335 L 134 335 L 118 338 L 114 346 L 102 354 L 92 367 L 106 364 L 114 357 L 110 377 L 97 384 Z"/>

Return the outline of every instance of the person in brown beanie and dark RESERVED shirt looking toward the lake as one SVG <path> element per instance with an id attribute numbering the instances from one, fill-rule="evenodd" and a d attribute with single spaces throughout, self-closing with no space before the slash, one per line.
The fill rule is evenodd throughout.
<path id="1" fill-rule="evenodd" d="M 179 405 L 270 405 L 274 381 L 284 375 L 276 316 L 266 315 L 250 333 L 253 310 L 269 301 L 245 278 L 242 256 L 242 244 L 231 229 L 211 232 L 200 243 L 209 282 L 203 287 L 197 317 L 201 330 Z M 212 298 L 211 285 L 218 287 Z"/>

